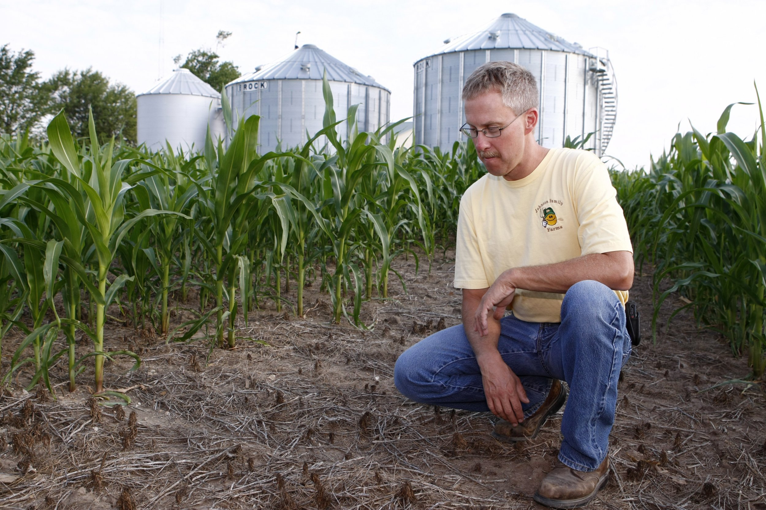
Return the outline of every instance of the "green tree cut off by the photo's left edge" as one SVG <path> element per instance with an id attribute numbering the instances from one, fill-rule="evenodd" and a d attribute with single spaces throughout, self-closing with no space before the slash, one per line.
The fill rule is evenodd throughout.
<path id="1" fill-rule="evenodd" d="M 50 87 L 31 70 L 34 51 L 0 47 L 0 131 L 29 129 L 50 110 Z"/>

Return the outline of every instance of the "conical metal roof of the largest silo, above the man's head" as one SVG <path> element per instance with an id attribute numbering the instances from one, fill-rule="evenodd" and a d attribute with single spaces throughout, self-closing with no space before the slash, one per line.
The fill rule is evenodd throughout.
<path id="1" fill-rule="evenodd" d="M 566 51 L 591 56 L 577 44 L 571 44 L 558 35 L 532 25 L 511 13 L 500 15 L 482 31 L 461 35 L 449 41 L 435 55 L 454 51 L 495 50 L 514 48 L 525 50 Z"/>

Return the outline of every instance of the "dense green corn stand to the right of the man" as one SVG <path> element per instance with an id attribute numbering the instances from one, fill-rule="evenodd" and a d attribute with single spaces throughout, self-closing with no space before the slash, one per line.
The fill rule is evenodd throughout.
<path id="1" fill-rule="evenodd" d="M 735 103 L 736 104 L 736 103 Z M 673 137 L 648 172 L 612 172 L 638 262 L 653 265 L 653 335 L 662 303 L 680 295 L 669 320 L 692 309 L 698 325 L 748 355 L 752 376 L 764 373 L 766 289 L 766 131 L 749 141 L 726 131 Z"/>

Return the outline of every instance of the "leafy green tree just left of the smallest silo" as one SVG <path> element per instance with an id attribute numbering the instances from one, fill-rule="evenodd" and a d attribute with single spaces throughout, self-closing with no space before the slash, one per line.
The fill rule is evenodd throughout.
<path id="1" fill-rule="evenodd" d="M 90 67 L 81 71 L 60 70 L 45 85 L 54 91 L 54 110 L 63 109 L 72 134 L 89 136 L 88 112 L 93 109 L 100 140 L 116 139 L 136 143 L 136 94 L 122 83 Z"/>

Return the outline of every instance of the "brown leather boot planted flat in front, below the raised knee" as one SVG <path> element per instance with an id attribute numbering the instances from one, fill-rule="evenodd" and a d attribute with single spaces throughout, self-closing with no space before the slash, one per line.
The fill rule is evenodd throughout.
<path id="1" fill-rule="evenodd" d="M 556 461 L 535 492 L 535 501 L 551 508 L 578 508 L 594 499 L 608 479 L 609 456 L 595 471 L 578 471 Z"/>

